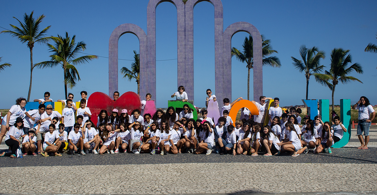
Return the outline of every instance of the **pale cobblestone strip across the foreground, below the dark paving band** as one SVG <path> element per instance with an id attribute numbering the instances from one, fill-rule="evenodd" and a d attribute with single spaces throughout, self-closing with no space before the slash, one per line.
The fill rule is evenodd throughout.
<path id="1" fill-rule="evenodd" d="M 2 167 L 0 171 L 3 173 L 3 182 L 0 184 L 0 193 L 365 191 L 377 189 L 376 169 L 377 164 L 352 163 L 172 163 Z"/>

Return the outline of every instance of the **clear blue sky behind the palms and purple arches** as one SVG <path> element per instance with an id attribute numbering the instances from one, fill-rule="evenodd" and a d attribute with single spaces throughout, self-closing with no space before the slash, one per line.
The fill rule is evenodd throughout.
<path id="1" fill-rule="evenodd" d="M 147 32 L 148 0 L 138 1 L 2 1 L 0 26 L 10 29 L 9 24 L 18 25 L 26 12 L 34 10 L 35 17 L 46 17 L 41 27 L 51 25 L 48 35 L 63 35 L 66 31 L 76 35 L 77 41 L 84 41 L 87 54 L 108 57 L 109 37 L 113 29 L 123 23 L 133 23 Z M 368 43 L 377 44 L 377 1 L 250 1 L 223 0 L 224 29 L 234 22 L 246 21 L 271 39 L 273 49 L 279 53 L 280 69 L 263 68 L 264 95 L 279 97 L 280 105 L 302 104 L 305 99 L 306 81 L 303 73 L 292 66 L 291 56 L 299 58 L 299 47 L 317 46 L 326 52 L 321 61 L 329 69 L 330 52 L 334 48 L 349 49 L 352 63 L 360 63 L 364 74 L 352 73 L 362 83 L 352 82 L 336 86 L 335 103 L 340 99 L 357 101 L 364 95 L 371 104 L 377 104 L 375 80 L 377 78 L 377 54 L 364 52 Z M 214 8 L 208 2 L 201 2 L 194 9 L 194 70 L 195 106 L 203 107 L 205 90 L 215 92 L 215 49 Z M 156 9 L 156 59 L 177 58 L 176 8 L 172 3 L 161 3 Z M 4 30 L 0 28 L 0 30 Z M 232 38 L 232 46 L 241 49 L 245 32 Z M 133 50 L 139 51 L 135 35 L 125 34 L 119 41 L 119 58 L 133 59 Z M 35 45 L 34 63 L 49 60 L 47 46 Z M 0 73 L 2 98 L 0 109 L 9 109 L 20 96 L 27 97 L 30 79 L 29 48 L 9 34 L 0 34 L 0 57 L 2 63 L 12 64 Z M 90 63 L 78 66 L 81 81 L 73 89 L 74 100 L 80 100 L 80 91 L 108 93 L 108 59 L 100 57 Z M 119 69 L 130 68 L 132 61 L 119 60 Z M 157 61 L 157 107 L 167 107 L 167 100 L 177 91 L 177 61 Z M 251 72 L 252 75 L 252 72 Z M 250 78 L 250 97 L 253 97 L 253 78 Z M 119 74 L 119 91 L 137 92 L 135 81 L 129 82 Z M 314 77 L 309 83 L 309 99 L 330 99 L 331 91 L 316 83 Z M 53 100 L 64 99 L 63 69 L 34 69 L 31 100 L 43 98 L 49 91 Z M 216 92 L 215 92 L 216 93 Z M 141 94 L 145 95 L 145 94 Z M 247 98 L 247 68 L 235 58 L 232 59 L 232 98 Z"/>

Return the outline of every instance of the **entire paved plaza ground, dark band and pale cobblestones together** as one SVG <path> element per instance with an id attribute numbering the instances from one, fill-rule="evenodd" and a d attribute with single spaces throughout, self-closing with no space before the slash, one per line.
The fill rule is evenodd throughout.
<path id="1" fill-rule="evenodd" d="M 376 130 L 371 129 L 372 140 Z M 298 157 L 261 153 L 257 157 L 127 153 L 3 157 L 0 193 L 377 194 L 377 147 L 332 150 L 332 154 L 310 150 Z"/>

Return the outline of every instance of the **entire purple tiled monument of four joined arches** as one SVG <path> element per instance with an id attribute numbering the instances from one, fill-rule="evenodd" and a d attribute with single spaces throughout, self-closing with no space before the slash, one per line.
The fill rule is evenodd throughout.
<path id="1" fill-rule="evenodd" d="M 262 38 L 258 29 L 247 22 L 237 22 L 223 30 L 221 0 L 150 0 L 147 5 L 147 34 L 139 26 L 123 24 L 114 29 L 109 40 L 109 96 L 118 91 L 118 40 L 124 33 L 135 34 L 140 42 L 140 94 L 156 97 L 156 8 L 170 2 L 177 9 L 178 86 L 185 86 L 189 100 L 194 99 L 194 49 L 193 9 L 200 2 L 210 2 L 215 7 L 215 94 L 222 107 L 222 99 L 232 100 L 231 92 L 231 38 L 240 31 L 253 37 L 254 49 L 254 100 L 263 94 Z M 184 76 L 183 76 L 184 75 Z M 177 86 L 177 87 L 178 87 Z"/>

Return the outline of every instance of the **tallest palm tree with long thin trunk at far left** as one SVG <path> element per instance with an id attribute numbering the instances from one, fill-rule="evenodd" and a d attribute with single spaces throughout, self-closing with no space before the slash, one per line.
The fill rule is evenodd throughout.
<path id="1" fill-rule="evenodd" d="M 31 12 L 30 15 L 27 15 L 25 13 L 23 23 L 15 18 L 20 27 L 11 25 L 14 31 L 2 31 L 1 33 L 9 33 L 12 35 L 12 37 L 17 37 L 18 40 L 21 41 L 21 43 L 28 42 L 28 48 L 30 50 L 30 86 L 29 86 L 29 93 L 28 93 L 28 101 L 30 99 L 31 94 L 31 83 L 32 83 L 32 77 L 33 77 L 33 47 L 34 43 L 47 43 L 52 39 L 52 37 L 44 37 L 46 32 L 51 26 L 48 26 L 44 28 L 42 31 L 39 32 L 39 24 L 42 22 L 42 19 L 45 17 L 43 14 L 40 15 L 37 20 L 33 18 L 33 12 Z"/>

